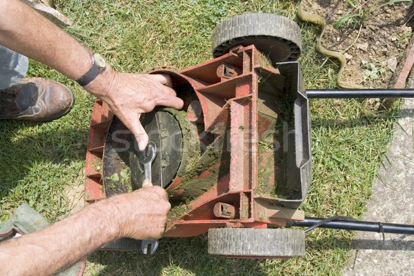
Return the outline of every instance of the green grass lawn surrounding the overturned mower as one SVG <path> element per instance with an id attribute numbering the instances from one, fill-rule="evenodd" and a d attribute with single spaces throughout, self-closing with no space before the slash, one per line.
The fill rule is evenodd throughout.
<path id="1" fill-rule="evenodd" d="M 68 32 L 122 72 L 164 65 L 184 69 L 212 59 L 213 28 L 237 14 L 272 12 L 297 20 L 293 1 L 58 0 L 57 7 L 76 23 Z M 314 50 L 317 27 L 299 26 L 306 88 L 335 88 L 337 64 L 324 63 Z M 0 122 L 0 221 L 23 202 L 51 222 L 63 219 L 70 212 L 66 188 L 83 184 L 94 98 L 34 61 L 29 75 L 65 83 L 77 100 L 70 114 L 57 121 Z M 311 113 L 313 182 L 301 209 L 308 216 L 360 218 L 391 139 L 393 114 L 366 119 L 359 101 L 341 99 L 311 100 Z M 339 275 L 353 235 L 314 230 L 306 234 L 306 257 L 288 260 L 210 256 L 206 235 L 165 238 L 154 256 L 93 253 L 85 275 Z"/>

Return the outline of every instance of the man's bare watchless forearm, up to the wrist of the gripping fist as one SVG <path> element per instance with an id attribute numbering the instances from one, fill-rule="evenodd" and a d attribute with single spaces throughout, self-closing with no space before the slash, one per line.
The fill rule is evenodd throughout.
<path id="1" fill-rule="evenodd" d="M 96 248 L 119 237 L 110 201 L 30 235 L 1 242 L 1 275 L 50 275 L 75 264 Z"/>

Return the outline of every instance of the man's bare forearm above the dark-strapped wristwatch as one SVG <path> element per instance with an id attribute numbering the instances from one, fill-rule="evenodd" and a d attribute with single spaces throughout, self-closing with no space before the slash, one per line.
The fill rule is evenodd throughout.
<path id="1" fill-rule="evenodd" d="M 19 0 L 0 0 L 0 44 L 79 79 L 91 54 L 69 34 Z"/>

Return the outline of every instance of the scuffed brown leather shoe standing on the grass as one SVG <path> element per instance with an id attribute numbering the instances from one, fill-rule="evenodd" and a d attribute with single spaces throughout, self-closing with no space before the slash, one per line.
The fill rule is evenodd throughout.
<path id="1" fill-rule="evenodd" d="M 66 115 L 74 101 L 72 91 L 61 83 L 25 78 L 0 90 L 0 119 L 51 121 Z"/>

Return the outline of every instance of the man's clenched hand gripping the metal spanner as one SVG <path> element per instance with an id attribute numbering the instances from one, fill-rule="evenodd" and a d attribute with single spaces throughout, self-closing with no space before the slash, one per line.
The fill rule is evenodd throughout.
<path id="1" fill-rule="evenodd" d="M 164 233 L 167 213 L 171 208 L 166 190 L 152 186 L 146 179 L 144 188 L 111 197 L 119 216 L 119 237 L 159 239 Z"/>

